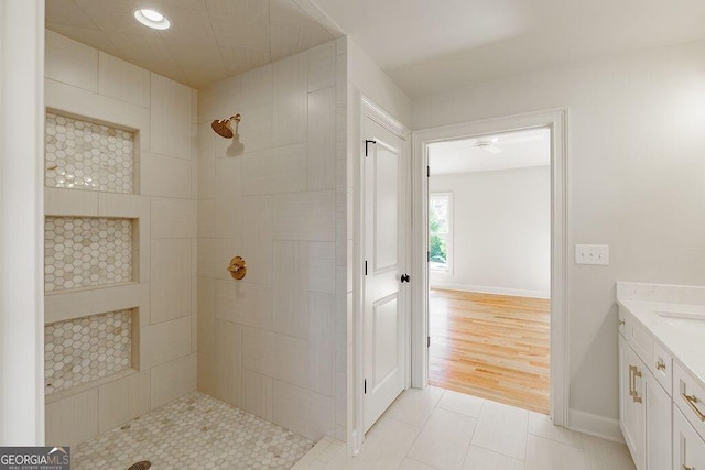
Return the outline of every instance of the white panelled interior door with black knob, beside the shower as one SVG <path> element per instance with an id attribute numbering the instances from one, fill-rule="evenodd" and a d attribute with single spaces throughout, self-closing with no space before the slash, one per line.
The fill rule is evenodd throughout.
<path id="1" fill-rule="evenodd" d="M 406 373 L 406 142 L 365 118 L 365 431 L 404 390 Z"/>

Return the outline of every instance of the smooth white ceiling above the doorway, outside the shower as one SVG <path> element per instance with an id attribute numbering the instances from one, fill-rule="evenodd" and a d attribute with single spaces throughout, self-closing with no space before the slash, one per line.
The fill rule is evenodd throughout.
<path id="1" fill-rule="evenodd" d="M 703 0 L 315 0 L 411 97 L 705 37 Z"/>

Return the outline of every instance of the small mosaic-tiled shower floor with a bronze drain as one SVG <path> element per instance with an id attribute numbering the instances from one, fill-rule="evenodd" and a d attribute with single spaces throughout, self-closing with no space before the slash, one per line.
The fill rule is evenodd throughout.
<path id="1" fill-rule="evenodd" d="M 194 392 L 72 449 L 72 468 L 290 469 L 313 442 Z"/>

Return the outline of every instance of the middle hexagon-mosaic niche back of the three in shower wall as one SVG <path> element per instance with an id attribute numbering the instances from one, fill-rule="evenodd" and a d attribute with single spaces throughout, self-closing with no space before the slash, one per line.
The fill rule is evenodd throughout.
<path id="1" fill-rule="evenodd" d="M 132 281 L 132 220 L 46 217 L 44 291 Z"/>

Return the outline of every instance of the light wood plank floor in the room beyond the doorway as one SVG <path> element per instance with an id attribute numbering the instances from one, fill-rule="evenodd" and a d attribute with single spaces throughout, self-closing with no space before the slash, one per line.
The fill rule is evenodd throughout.
<path id="1" fill-rule="evenodd" d="M 432 289 L 429 383 L 549 413 L 550 300 Z"/>

